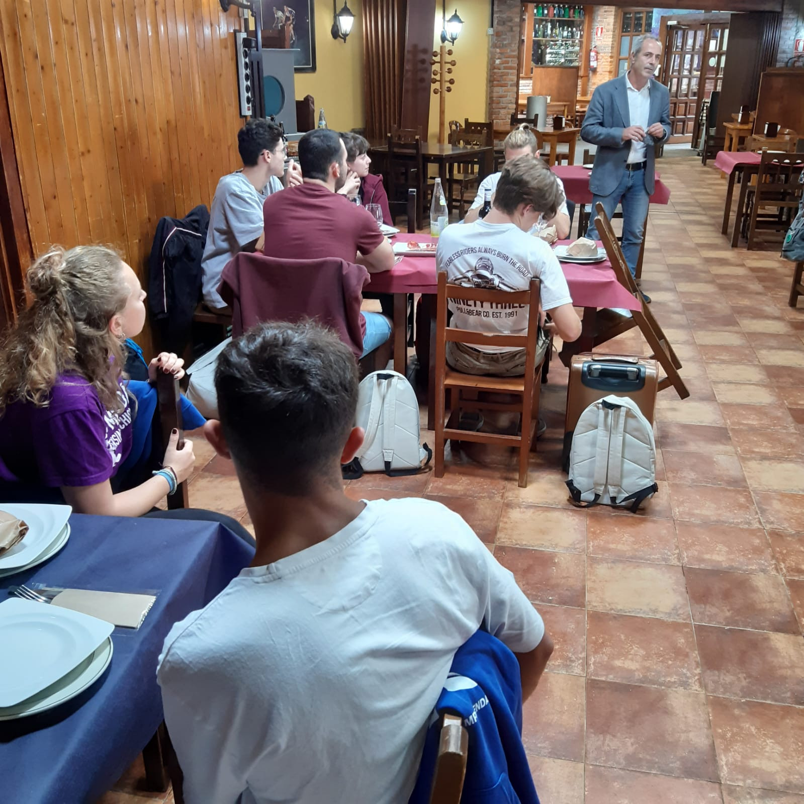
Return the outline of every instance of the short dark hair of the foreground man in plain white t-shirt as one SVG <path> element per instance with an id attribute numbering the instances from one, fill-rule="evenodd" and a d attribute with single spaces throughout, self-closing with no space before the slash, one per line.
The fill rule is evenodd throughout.
<path id="1" fill-rule="evenodd" d="M 233 340 L 219 355 L 215 391 L 239 474 L 290 496 L 326 482 L 355 425 L 357 390 L 355 355 L 314 322 L 259 324 Z"/>

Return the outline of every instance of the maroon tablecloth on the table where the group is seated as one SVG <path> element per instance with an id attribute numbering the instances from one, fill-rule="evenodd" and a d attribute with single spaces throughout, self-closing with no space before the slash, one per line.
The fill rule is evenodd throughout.
<path id="1" fill-rule="evenodd" d="M 432 243 L 429 235 L 399 234 L 394 241 L 418 240 Z M 571 240 L 560 240 L 566 244 Z M 576 307 L 621 307 L 640 310 L 639 302 L 617 281 L 609 260 L 594 265 L 561 263 L 572 304 Z M 436 258 L 405 256 L 390 271 L 372 273 L 366 289 L 372 293 L 436 293 Z"/>

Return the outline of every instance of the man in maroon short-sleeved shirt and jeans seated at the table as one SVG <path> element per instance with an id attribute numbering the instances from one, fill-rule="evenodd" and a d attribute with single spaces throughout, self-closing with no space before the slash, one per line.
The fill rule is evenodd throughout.
<path id="1" fill-rule="evenodd" d="M 338 190 L 347 180 L 347 149 L 335 131 L 315 129 L 299 140 L 303 181 L 263 204 L 265 256 L 286 260 L 338 257 L 365 265 L 369 273 L 394 265 L 391 244 L 377 221 Z M 281 199 L 278 196 L 282 196 Z M 391 321 L 379 313 L 363 313 L 363 355 L 385 343 Z"/>

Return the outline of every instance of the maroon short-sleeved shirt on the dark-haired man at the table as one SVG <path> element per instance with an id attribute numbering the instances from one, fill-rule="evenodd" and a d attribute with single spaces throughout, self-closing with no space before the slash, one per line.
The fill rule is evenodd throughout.
<path id="1" fill-rule="evenodd" d="M 354 262 L 383 242 L 374 216 L 320 184 L 269 195 L 262 207 L 265 256 L 285 260 L 338 257 Z"/>

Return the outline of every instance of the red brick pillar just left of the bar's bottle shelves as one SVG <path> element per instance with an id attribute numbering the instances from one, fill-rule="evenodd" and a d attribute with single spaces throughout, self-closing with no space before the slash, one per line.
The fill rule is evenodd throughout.
<path id="1" fill-rule="evenodd" d="M 494 34 L 489 38 L 489 116 L 486 120 L 507 120 L 516 109 L 521 14 L 520 0 L 494 2 Z"/>

